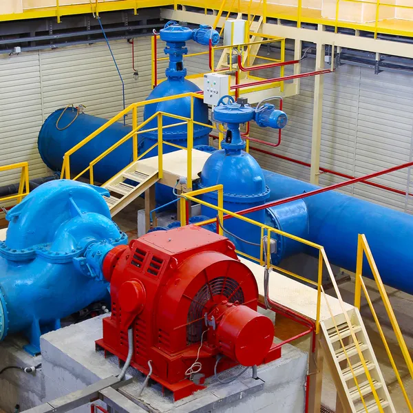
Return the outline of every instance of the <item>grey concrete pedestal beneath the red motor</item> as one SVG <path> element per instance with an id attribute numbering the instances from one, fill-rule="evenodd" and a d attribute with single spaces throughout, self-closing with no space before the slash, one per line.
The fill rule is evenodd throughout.
<path id="1" fill-rule="evenodd" d="M 41 337 L 45 399 L 50 401 L 70 392 L 85 388 L 99 379 L 118 374 L 118 359 L 105 359 L 103 352 L 96 352 L 94 341 L 102 337 L 102 317 L 47 333 Z M 222 373 L 231 377 L 234 371 Z M 136 399 L 148 412 L 156 413 L 207 413 L 207 412 L 304 412 L 307 354 L 284 346 L 282 358 L 258 368 L 259 380 L 252 379 L 248 369 L 239 379 L 229 384 L 218 383 L 213 377 L 207 380 L 205 390 L 173 402 L 162 396 L 158 385 L 146 388 Z M 122 388 L 123 394 L 134 399 L 144 377 L 129 368 L 127 377 L 134 376 L 134 383 Z M 223 378 L 226 376 L 223 375 Z M 79 412 L 89 412 L 83 406 Z"/>

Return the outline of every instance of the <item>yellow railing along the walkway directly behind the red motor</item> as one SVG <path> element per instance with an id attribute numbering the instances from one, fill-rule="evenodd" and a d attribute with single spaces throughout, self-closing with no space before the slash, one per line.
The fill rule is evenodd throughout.
<path id="1" fill-rule="evenodd" d="M 220 235 L 223 235 L 224 231 L 222 229 L 223 223 L 224 223 L 224 213 L 226 215 L 231 215 L 231 217 L 242 220 L 243 222 L 247 222 L 248 224 L 253 224 L 255 226 L 260 227 L 261 229 L 261 241 L 260 241 L 260 258 L 253 257 L 251 255 L 248 255 L 246 253 L 243 253 L 242 251 L 236 251 L 238 255 L 242 255 L 242 257 L 246 257 L 249 260 L 258 262 L 262 266 L 266 266 L 267 268 L 273 268 L 277 271 L 280 271 L 282 273 L 285 273 L 289 275 L 290 277 L 294 277 L 296 279 L 299 279 L 303 282 L 306 282 L 312 286 L 317 287 L 317 310 L 316 310 L 316 319 L 315 319 L 315 326 L 316 326 L 316 332 L 319 332 L 319 321 L 320 321 L 320 309 L 321 309 L 321 282 L 322 282 L 322 275 L 323 275 L 323 264 L 326 266 L 330 266 L 328 263 L 326 254 L 324 253 L 324 247 L 315 244 L 314 242 L 310 242 L 308 240 L 304 240 L 303 238 L 296 237 L 295 235 L 291 235 L 288 233 L 285 233 L 284 231 L 280 231 L 279 229 L 275 229 L 271 226 L 262 224 L 261 222 L 257 222 L 254 220 L 251 220 L 250 218 L 246 218 L 244 215 L 238 215 L 235 212 L 228 211 L 227 209 L 224 209 L 223 204 L 224 204 L 224 195 L 223 195 L 223 186 L 222 184 L 220 185 L 215 185 L 213 187 L 208 187 L 208 188 L 203 188 L 203 189 L 198 189 L 197 191 L 191 191 L 187 193 L 182 193 L 181 198 L 180 198 L 180 222 L 181 225 L 184 226 L 187 224 L 187 212 L 186 212 L 186 202 L 187 201 L 192 201 L 192 202 L 197 202 L 198 204 L 204 205 L 205 207 L 209 207 L 211 209 L 214 209 L 217 211 L 218 218 L 212 218 L 211 220 L 205 220 L 203 222 L 197 222 L 195 225 L 197 226 L 202 226 L 205 224 L 211 224 L 211 223 L 217 223 L 218 225 L 218 231 Z M 200 200 L 199 198 L 195 198 L 198 195 L 202 195 L 204 193 L 209 193 L 213 191 L 218 191 L 218 204 L 210 204 L 209 202 L 206 202 L 204 200 Z M 264 246 L 264 233 L 266 235 L 266 241 L 267 244 Z M 295 240 L 297 242 L 301 242 L 302 244 L 306 244 L 307 246 L 311 246 L 313 248 L 317 248 L 319 250 L 319 268 L 318 268 L 318 275 L 317 275 L 317 282 L 313 281 L 312 279 L 308 279 L 306 277 L 302 277 L 301 275 L 295 274 L 291 271 L 286 271 L 283 268 L 279 268 L 278 266 L 275 266 L 271 262 L 271 234 L 278 234 L 282 235 L 283 237 L 290 238 L 290 240 Z M 266 248 L 266 253 L 265 253 L 265 258 L 264 258 L 264 248 Z"/>

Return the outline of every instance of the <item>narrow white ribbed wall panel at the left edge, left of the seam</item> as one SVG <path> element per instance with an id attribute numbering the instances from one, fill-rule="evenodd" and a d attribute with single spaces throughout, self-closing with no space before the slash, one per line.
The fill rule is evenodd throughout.
<path id="1" fill-rule="evenodd" d="M 41 128 L 41 74 L 38 52 L 0 56 L 0 165 L 28 161 L 30 177 L 47 168 L 37 151 Z M 0 173 L 0 185 L 19 182 L 20 169 Z"/>

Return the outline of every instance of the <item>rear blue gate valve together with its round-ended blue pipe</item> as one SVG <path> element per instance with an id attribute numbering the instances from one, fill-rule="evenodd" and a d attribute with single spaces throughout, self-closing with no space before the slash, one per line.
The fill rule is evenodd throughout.
<path id="1" fill-rule="evenodd" d="M 160 30 L 160 39 L 167 43 L 165 54 L 169 55 L 169 67 L 165 71 L 167 79 L 162 81 L 149 94 L 148 99 L 162 98 L 187 92 L 199 92 L 200 89 L 194 83 L 187 81 L 184 76 L 187 70 L 184 67 L 183 56 L 188 53 L 185 42 L 193 40 L 201 45 L 209 45 L 211 39 L 212 45 L 220 41 L 220 34 L 211 29 L 209 26 L 200 25 L 200 28 L 192 30 L 182 27 L 175 21 L 169 21 L 165 28 Z M 104 125 L 107 120 L 79 113 L 76 109 L 58 109 L 53 112 L 43 124 L 39 133 L 38 147 L 43 162 L 52 169 L 60 171 L 63 162 L 63 155 L 74 145 L 81 142 L 84 138 Z M 191 99 L 181 98 L 179 100 L 168 100 L 160 103 L 153 103 L 145 106 L 144 120 L 158 111 L 180 116 L 191 117 Z M 209 124 L 208 106 L 202 103 L 202 100 L 195 99 L 194 120 L 200 123 Z M 74 118 L 76 117 L 76 120 Z M 73 121 L 74 120 L 74 121 Z M 73 121 L 72 124 L 70 124 Z M 174 118 L 164 117 L 164 125 L 177 123 Z M 67 125 L 69 125 L 67 127 Z M 147 129 L 156 127 L 157 120 L 149 122 Z M 58 129 L 59 127 L 59 129 Z M 207 145 L 208 135 L 211 129 L 200 125 L 194 125 L 193 145 Z M 131 131 L 131 127 L 123 126 L 120 123 L 114 123 L 111 127 L 105 129 L 98 138 L 91 140 L 84 147 L 76 151 L 70 161 L 72 173 L 80 173 L 85 169 L 89 162 L 99 156 L 103 151 L 118 142 L 123 136 Z M 140 140 L 139 153 L 149 149 L 157 140 L 156 131 L 142 134 L 144 138 Z M 171 141 L 177 145 L 187 146 L 187 126 L 181 125 L 165 129 L 163 132 L 165 141 Z M 164 153 L 176 151 L 176 148 L 165 145 Z M 147 156 L 155 156 L 157 150 L 153 150 Z M 116 175 L 120 169 L 123 169 L 132 161 L 132 142 L 128 140 L 123 145 L 110 153 L 104 160 L 98 162 L 94 167 L 94 178 L 96 182 L 106 182 L 109 178 Z M 169 189 L 170 196 L 172 191 Z M 163 193 L 163 196 L 166 196 Z"/>

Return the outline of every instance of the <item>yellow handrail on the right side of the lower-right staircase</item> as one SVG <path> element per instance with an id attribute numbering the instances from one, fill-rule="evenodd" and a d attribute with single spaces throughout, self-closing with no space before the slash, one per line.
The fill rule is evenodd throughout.
<path id="1" fill-rule="evenodd" d="M 372 303 L 372 299 L 370 298 L 370 295 L 368 293 L 368 290 L 366 288 L 366 284 L 364 283 L 363 280 L 363 258 L 364 255 L 366 255 L 368 264 L 370 266 L 370 269 L 372 271 L 374 281 L 376 282 L 377 289 L 379 290 L 380 297 L 383 301 L 384 308 L 386 310 L 386 313 L 388 314 L 388 317 L 390 319 L 390 324 L 392 325 L 394 335 L 396 335 L 396 340 L 397 343 L 399 343 L 399 347 L 401 349 L 401 354 L 403 354 L 403 358 L 406 363 L 406 367 L 409 370 L 410 377 L 413 379 L 413 361 L 412 357 L 410 356 L 410 352 L 406 346 L 405 340 L 403 339 L 403 335 L 401 333 L 399 323 L 396 320 L 396 316 L 394 315 L 394 311 L 392 308 L 392 305 L 390 304 L 390 300 L 388 297 L 388 294 L 385 291 L 385 287 L 383 285 L 383 282 L 381 281 L 381 277 L 379 274 L 379 271 L 377 270 L 376 263 L 374 262 L 374 258 L 372 256 L 372 252 L 370 251 L 370 246 L 368 245 L 368 242 L 366 240 L 365 235 L 359 235 L 359 243 L 357 246 L 357 268 L 356 268 L 356 288 L 354 292 L 354 306 L 360 309 L 360 304 L 361 304 L 361 290 L 363 290 L 364 295 L 366 296 L 366 300 L 368 302 L 368 305 L 370 307 L 370 310 L 372 312 L 374 321 L 377 325 L 377 330 L 379 332 L 379 335 L 381 337 L 381 340 L 383 341 L 383 346 L 385 348 L 385 351 L 388 354 L 390 364 L 394 370 L 394 374 L 396 375 L 396 379 L 400 385 L 401 391 L 403 392 L 403 396 L 405 398 L 405 401 L 407 403 L 407 407 L 409 409 L 409 412 L 413 412 L 412 404 L 410 402 L 409 396 L 407 395 L 407 392 L 405 390 L 405 386 L 403 385 L 403 380 L 400 377 L 399 370 L 396 366 L 396 363 L 394 361 L 394 357 L 392 356 L 392 352 L 390 350 L 390 347 L 388 345 L 388 341 L 385 338 L 383 328 L 381 327 L 379 317 L 377 317 L 376 310 L 374 310 L 374 306 Z"/>

